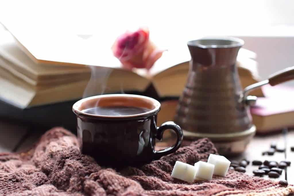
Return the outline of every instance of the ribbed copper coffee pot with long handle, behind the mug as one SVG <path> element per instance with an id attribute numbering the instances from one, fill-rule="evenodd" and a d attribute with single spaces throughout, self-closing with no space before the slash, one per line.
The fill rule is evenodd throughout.
<path id="1" fill-rule="evenodd" d="M 180 97 L 175 122 L 184 139 L 210 138 L 223 155 L 243 152 L 255 135 L 248 93 L 265 84 L 294 79 L 294 67 L 242 90 L 236 58 L 244 41 L 238 38 L 203 38 L 188 42 L 191 54 L 186 87 Z"/>

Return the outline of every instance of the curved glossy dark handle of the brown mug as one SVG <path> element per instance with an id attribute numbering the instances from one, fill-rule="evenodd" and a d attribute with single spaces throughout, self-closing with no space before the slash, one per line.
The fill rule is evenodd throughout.
<path id="1" fill-rule="evenodd" d="M 174 146 L 168 147 L 163 150 L 154 151 L 154 155 L 156 158 L 160 158 L 161 156 L 171 154 L 171 153 L 175 152 L 176 150 L 178 150 L 179 147 L 181 146 L 181 143 L 183 140 L 183 131 L 179 125 L 177 125 L 176 123 L 174 123 L 172 121 L 165 122 L 160 127 L 157 127 L 156 138 L 161 140 L 162 136 L 163 136 L 163 132 L 166 129 L 172 129 L 176 132 L 177 142 Z"/>

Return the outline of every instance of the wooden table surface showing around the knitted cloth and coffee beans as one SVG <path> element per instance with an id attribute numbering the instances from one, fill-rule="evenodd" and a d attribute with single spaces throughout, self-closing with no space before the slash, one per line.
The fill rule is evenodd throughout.
<path id="1" fill-rule="evenodd" d="M 0 152 L 21 152 L 29 148 L 44 132 L 35 132 L 33 127 L 25 127 L 21 125 L 9 124 L 7 122 L 0 122 Z M 285 147 L 286 152 L 275 152 L 273 156 L 262 155 L 263 151 L 270 148 L 270 144 L 276 142 L 278 147 Z M 258 169 L 258 166 L 253 166 L 253 160 L 273 160 L 282 161 L 289 160 L 292 162 L 291 166 L 283 171 L 278 179 L 271 178 L 271 180 L 286 179 L 290 184 L 294 183 L 294 152 L 291 152 L 290 147 L 294 146 L 294 131 L 284 131 L 266 136 L 255 136 L 248 145 L 246 151 L 237 157 L 228 157 L 229 160 L 240 161 L 244 158 L 250 161 L 246 167 L 246 173 L 253 175 L 252 171 Z M 264 176 L 268 178 L 268 176 Z"/>

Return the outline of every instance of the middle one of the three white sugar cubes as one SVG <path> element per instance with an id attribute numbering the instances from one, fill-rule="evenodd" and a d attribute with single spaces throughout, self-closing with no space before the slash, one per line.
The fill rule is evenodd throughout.
<path id="1" fill-rule="evenodd" d="M 196 167 L 196 180 L 211 180 L 213 171 L 214 171 L 214 165 L 198 161 L 194 165 Z"/>

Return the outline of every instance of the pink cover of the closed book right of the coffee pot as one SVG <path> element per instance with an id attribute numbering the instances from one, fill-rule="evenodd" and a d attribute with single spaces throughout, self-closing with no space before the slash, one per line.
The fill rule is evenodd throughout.
<path id="1" fill-rule="evenodd" d="M 265 97 L 258 97 L 256 105 L 250 108 L 251 114 L 269 116 L 294 111 L 294 88 L 285 86 L 262 87 Z"/>

